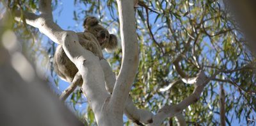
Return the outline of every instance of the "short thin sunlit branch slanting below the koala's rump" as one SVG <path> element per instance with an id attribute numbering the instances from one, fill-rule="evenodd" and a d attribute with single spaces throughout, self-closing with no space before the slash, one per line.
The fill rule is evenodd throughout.
<path id="1" fill-rule="evenodd" d="M 83 79 L 77 72 L 70 86 L 68 86 L 68 88 L 60 95 L 60 100 L 65 101 L 67 97 L 76 89 L 77 85 L 81 83 L 81 81 L 83 81 Z"/>

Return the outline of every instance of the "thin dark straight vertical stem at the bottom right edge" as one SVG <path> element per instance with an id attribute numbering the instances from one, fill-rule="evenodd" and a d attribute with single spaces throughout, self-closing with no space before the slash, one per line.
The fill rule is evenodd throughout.
<path id="1" fill-rule="evenodd" d="M 220 125 L 225 126 L 225 91 L 223 84 L 220 84 Z"/>

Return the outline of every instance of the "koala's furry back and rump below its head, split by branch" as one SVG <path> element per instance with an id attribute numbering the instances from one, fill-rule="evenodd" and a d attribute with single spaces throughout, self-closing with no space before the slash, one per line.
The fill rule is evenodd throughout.
<path id="1" fill-rule="evenodd" d="M 95 56 L 98 56 L 100 59 L 103 58 L 101 47 L 97 38 L 93 36 L 91 33 L 77 33 L 79 38 L 79 43 L 84 47 L 84 49 L 93 52 Z M 74 76 L 78 72 L 76 65 L 68 59 L 65 54 L 62 45 L 58 45 L 56 48 L 56 52 L 54 54 L 54 71 L 61 77 L 61 79 L 72 82 Z"/>

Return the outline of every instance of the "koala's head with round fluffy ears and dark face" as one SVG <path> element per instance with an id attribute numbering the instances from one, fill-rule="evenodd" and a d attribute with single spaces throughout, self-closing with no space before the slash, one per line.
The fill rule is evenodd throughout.
<path id="1" fill-rule="evenodd" d="M 97 38 L 102 49 L 112 51 L 117 47 L 116 36 L 109 34 L 108 30 L 99 24 L 99 20 L 96 17 L 86 17 L 83 26 L 86 31 Z"/>

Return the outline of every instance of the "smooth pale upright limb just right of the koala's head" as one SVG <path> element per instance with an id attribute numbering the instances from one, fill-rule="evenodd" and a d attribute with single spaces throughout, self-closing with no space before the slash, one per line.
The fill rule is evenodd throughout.
<path id="1" fill-rule="evenodd" d="M 122 40 L 122 65 L 116 80 L 110 104 L 115 108 L 116 116 L 124 113 L 125 101 L 138 68 L 138 38 L 134 17 L 133 1 L 117 0 Z"/>

